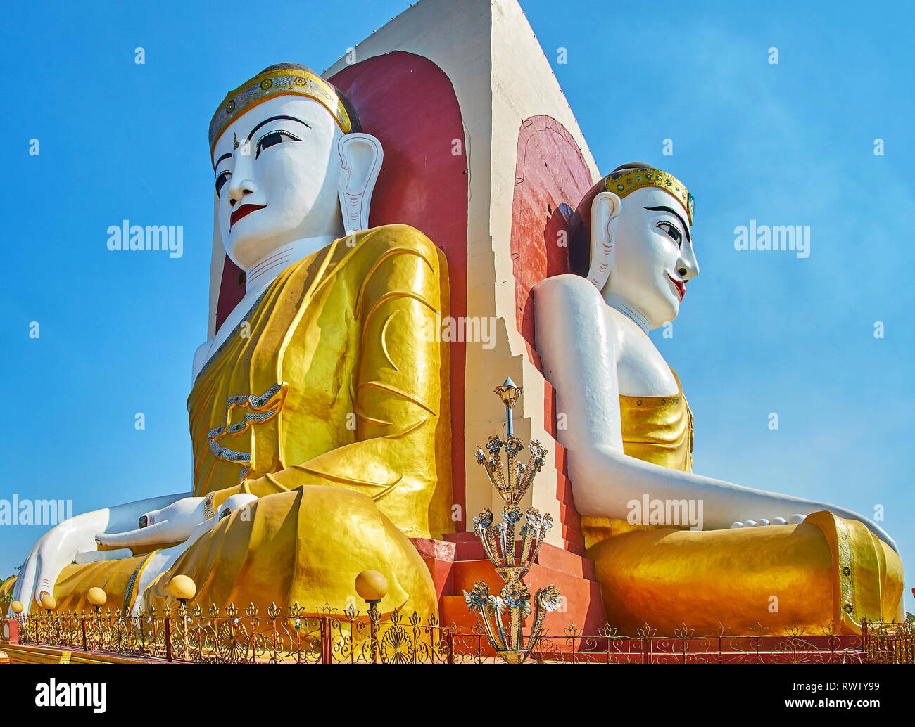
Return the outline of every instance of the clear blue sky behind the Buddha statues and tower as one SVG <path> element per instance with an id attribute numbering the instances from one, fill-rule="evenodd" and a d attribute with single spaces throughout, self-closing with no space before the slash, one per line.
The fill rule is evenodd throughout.
<path id="1" fill-rule="evenodd" d="M 216 104 L 278 61 L 327 68 L 406 7 L 86 5 L 16 4 L 0 28 L 0 498 L 70 497 L 76 511 L 189 489 Z M 648 161 L 696 197 L 701 273 L 673 338 L 655 334 L 694 411 L 694 470 L 870 517 L 882 506 L 908 593 L 915 14 L 740 5 L 522 1 L 601 171 Z M 183 257 L 108 251 L 122 219 L 183 225 Z M 735 251 L 750 219 L 809 225 L 810 256 Z M 43 531 L 0 528 L 0 576 Z"/>

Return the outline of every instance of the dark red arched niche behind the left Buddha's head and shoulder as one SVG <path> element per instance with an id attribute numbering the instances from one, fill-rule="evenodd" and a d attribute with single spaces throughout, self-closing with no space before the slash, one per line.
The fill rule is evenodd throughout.
<path id="1" fill-rule="evenodd" d="M 377 137 L 384 150 L 370 226 L 412 225 L 445 251 L 450 313 L 467 315 L 468 162 L 451 81 L 431 60 L 403 51 L 363 60 L 330 81 L 350 99 L 363 130 Z M 452 484 L 463 513 L 465 345 L 448 347 Z"/>

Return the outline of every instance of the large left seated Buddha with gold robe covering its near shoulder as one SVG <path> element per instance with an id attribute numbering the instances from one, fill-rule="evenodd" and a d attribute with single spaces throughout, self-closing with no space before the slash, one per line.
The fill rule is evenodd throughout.
<path id="1" fill-rule="evenodd" d="M 350 102 L 304 66 L 271 66 L 210 123 L 219 230 L 245 294 L 194 355 L 190 492 L 70 519 L 43 537 L 14 596 L 27 609 L 174 604 L 436 613 L 410 537 L 451 526 L 444 255 L 404 225 L 368 227 L 382 162 Z M 176 489 L 178 489 L 176 487 Z"/>

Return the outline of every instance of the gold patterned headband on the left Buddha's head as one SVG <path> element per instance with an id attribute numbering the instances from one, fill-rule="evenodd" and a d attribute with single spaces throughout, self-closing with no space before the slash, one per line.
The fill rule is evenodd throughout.
<path id="1" fill-rule="evenodd" d="M 342 129 L 343 134 L 350 133 L 352 128 L 350 115 L 343 107 L 337 91 L 334 91 L 326 80 L 305 69 L 291 67 L 270 69 L 245 81 L 237 89 L 226 94 L 220 108 L 213 114 L 210 121 L 210 154 L 213 153 L 220 134 L 243 112 L 269 101 L 274 96 L 283 95 L 304 96 L 320 102 L 334 117 L 334 121 Z"/>

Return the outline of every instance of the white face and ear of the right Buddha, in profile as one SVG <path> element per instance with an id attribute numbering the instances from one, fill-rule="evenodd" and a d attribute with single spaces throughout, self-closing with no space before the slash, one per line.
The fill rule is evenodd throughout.
<path id="1" fill-rule="evenodd" d="M 619 296 L 634 305 L 650 328 L 657 328 L 677 316 L 687 281 L 699 273 L 689 218 L 683 204 L 658 187 L 642 187 L 616 199 L 617 218 L 611 222 L 611 214 L 606 214 L 601 224 L 591 227 L 592 250 L 601 244 L 608 225 L 615 246 L 613 268 L 601 294 L 608 302 Z M 612 206 L 613 199 L 607 207 Z"/>

